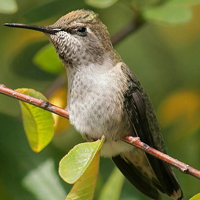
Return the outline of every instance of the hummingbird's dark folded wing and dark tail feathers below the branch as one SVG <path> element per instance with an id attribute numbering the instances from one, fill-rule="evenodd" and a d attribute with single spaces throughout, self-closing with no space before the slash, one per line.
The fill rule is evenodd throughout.
<path id="1" fill-rule="evenodd" d="M 122 65 L 122 70 L 127 75 L 128 80 L 127 84 L 129 89 L 125 94 L 124 106 L 133 128 L 133 135 L 140 137 L 141 141 L 149 146 L 164 152 L 164 142 L 148 96 L 143 91 L 140 83 L 130 69 Z M 148 160 L 149 167 L 156 177 L 156 181 L 150 179 L 146 180 L 144 175 L 138 172 L 139 168 L 137 168 L 134 163 L 129 162 L 130 159 L 128 160 L 125 155 L 125 159 L 119 155 L 113 158 L 113 160 L 129 181 L 151 198 L 159 199 L 159 196 L 156 195 L 158 192 L 155 193 L 157 188 L 174 199 L 182 199 L 182 190 L 171 167 L 167 163 L 149 154 L 145 153 L 145 156 Z M 138 176 L 141 176 L 141 179 L 138 179 Z M 145 188 L 147 186 L 149 188 L 147 187 L 148 189 L 143 191 L 144 186 Z"/>

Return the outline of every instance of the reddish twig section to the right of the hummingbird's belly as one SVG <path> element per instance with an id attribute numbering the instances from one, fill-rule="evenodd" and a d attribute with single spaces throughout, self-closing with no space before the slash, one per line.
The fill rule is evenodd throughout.
<path id="1" fill-rule="evenodd" d="M 123 139 L 123 141 L 145 151 L 146 153 L 148 153 L 160 160 L 163 160 L 163 161 L 169 163 L 170 165 L 172 165 L 173 167 L 177 168 L 178 170 L 180 170 L 181 172 L 183 172 L 185 174 L 190 174 L 191 176 L 194 176 L 194 177 L 200 179 L 200 171 L 199 170 L 197 170 L 193 167 L 190 167 L 189 165 L 150 147 L 149 145 L 140 141 L 139 137 L 126 136 Z"/>

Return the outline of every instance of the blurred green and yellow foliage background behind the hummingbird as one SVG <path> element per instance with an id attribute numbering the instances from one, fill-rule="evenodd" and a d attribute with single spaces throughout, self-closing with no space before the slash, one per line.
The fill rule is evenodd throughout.
<path id="1" fill-rule="evenodd" d="M 149 94 L 169 155 L 200 169 L 200 1 L 0 0 L 0 24 L 48 25 L 81 8 L 99 13 L 111 35 L 134 19 L 135 11 L 144 19 L 144 25 L 115 49 Z M 65 107 L 67 86 L 57 88 L 64 67 L 48 44 L 41 33 L 0 26 L 0 83 L 13 89 L 34 88 Z M 39 154 L 32 152 L 19 103 L 0 95 L 0 198 L 65 199 L 71 186 L 59 177 L 58 163 L 79 142 L 83 140 L 69 122 L 57 117 L 51 144 Z M 101 159 L 95 199 L 113 168 L 111 160 Z M 175 173 L 185 199 L 200 192 L 199 180 L 176 169 Z M 148 198 L 125 181 L 118 199 Z"/>

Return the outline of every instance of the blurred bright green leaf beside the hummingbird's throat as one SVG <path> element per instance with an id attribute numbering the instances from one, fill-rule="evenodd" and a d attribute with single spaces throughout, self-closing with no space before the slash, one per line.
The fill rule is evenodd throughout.
<path id="1" fill-rule="evenodd" d="M 64 70 L 53 45 L 48 44 L 41 48 L 33 58 L 33 62 L 40 69 L 51 74 L 59 74 Z"/>

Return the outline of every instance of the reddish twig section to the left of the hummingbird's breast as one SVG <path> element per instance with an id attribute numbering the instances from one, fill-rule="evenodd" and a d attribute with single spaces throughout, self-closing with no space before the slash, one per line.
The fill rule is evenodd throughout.
<path id="1" fill-rule="evenodd" d="M 60 108 L 58 106 L 55 106 L 55 105 L 49 103 L 48 101 L 44 101 L 42 99 L 37 99 L 35 97 L 31 97 L 29 95 L 22 94 L 20 92 L 12 90 L 3 84 L 0 84 L 0 93 L 5 94 L 9 97 L 18 99 L 20 101 L 24 101 L 26 103 L 32 104 L 32 105 L 42 108 L 44 110 L 48 110 L 52 113 L 55 113 L 57 115 L 60 115 L 62 117 L 69 119 L 69 114 L 68 114 L 67 110 Z"/>

